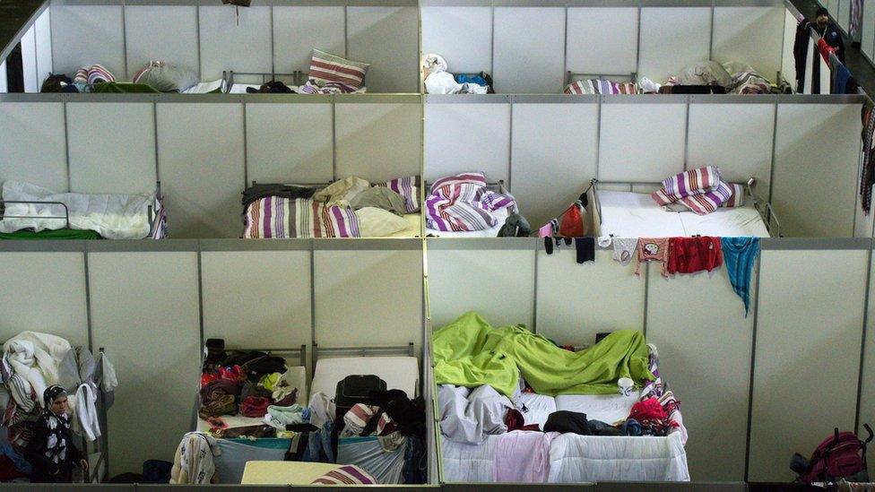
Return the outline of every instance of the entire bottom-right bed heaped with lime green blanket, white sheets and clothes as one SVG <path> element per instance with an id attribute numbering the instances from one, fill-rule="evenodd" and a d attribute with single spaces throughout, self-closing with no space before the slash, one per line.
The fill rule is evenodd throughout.
<path id="1" fill-rule="evenodd" d="M 554 398 L 550 388 L 544 390 L 539 384 L 540 376 L 525 368 L 526 363 L 503 370 L 508 359 L 520 359 L 519 350 L 507 350 L 507 337 L 493 340 L 498 333 L 484 327 L 489 325 L 469 313 L 435 333 L 447 481 L 689 480 L 680 402 L 661 378 L 655 348 L 645 346 L 639 332 L 613 332 L 581 352 L 541 338 L 543 349 L 531 357 L 554 371 L 559 368 L 557 379 L 563 379 L 563 385 L 585 380 L 589 369 L 611 379 L 617 367 L 629 367 L 622 361 L 628 361 L 630 354 L 637 360 L 637 372 L 645 373 L 636 379 L 636 372 L 626 372 L 632 375 L 631 386 L 614 380 L 595 392 L 561 393 Z M 510 328 L 515 335 L 522 330 Z M 629 345 L 629 340 L 634 342 Z M 472 364 L 471 353 L 483 354 L 479 364 Z M 575 356 L 587 358 L 586 366 L 563 371 Z M 447 377 L 447 361 L 459 362 L 450 373 L 462 374 L 469 382 L 455 384 L 457 379 Z M 503 388 L 505 379 L 513 385 Z"/>

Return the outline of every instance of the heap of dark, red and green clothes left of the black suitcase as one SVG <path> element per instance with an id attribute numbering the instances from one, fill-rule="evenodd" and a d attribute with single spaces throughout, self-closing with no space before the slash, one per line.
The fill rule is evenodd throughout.
<path id="1" fill-rule="evenodd" d="M 221 339 L 211 342 L 221 346 Z M 303 371 L 297 369 L 286 367 L 283 358 L 257 350 L 216 350 L 204 362 L 198 416 L 218 437 L 290 436 L 287 426 L 308 419 L 307 409 L 299 404 L 304 380 Z M 238 414 L 263 423 L 229 427 L 221 419 Z"/>

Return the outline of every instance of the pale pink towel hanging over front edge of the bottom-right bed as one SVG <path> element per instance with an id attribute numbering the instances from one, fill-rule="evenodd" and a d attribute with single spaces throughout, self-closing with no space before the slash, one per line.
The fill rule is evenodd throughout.
<path id="1" fill-rule="evenodd" d="M 544 483 L 550 475 L 550 441 L 558 432 L 515 430 L 498 436 L 492 478 L 497 482 Z"/>

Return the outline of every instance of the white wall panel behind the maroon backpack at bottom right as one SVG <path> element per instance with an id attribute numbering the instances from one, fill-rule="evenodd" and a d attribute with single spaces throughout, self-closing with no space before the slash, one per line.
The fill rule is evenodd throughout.
<path id="1" fill-rule="evenodd" d="M 789 481 L 793 453 L 853 428 L 868 265 L 865 250 L 763 252 L 749 480 Z"/>

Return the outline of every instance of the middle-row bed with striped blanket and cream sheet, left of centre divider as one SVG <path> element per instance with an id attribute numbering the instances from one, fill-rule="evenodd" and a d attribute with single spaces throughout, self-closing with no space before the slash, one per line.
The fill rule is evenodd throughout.
<path id="1" fill-rule="evenodd" d="M 403 209 L 399 211 L 403 213 L 398 215 L 387 210 L 376 210 L 375 206 L 360 206 L 358 210 L 353 210 L 351 206 L 332 206 L 310 198 L 293 199 L 277 191 L 278 187 L 318 191 L 350 180 L 361 181 L 362 186 L 351 188 L 355 191 L 343 191 L 342 194 L 351 193 L 355 196 L 364 191 L 375 191 L 376 188 L 388 188 L 401 195 L 395 199 L 403 199 L 403 203 L 394 206 Z M 243 194 L 242 237 L 247 239 L 422 236 L 419 177 L 395 178 L 374 184 L 365 183 L 357 177 L 333 183 L 288 185 L 261 185 L 253 181 Z M 307 196 L 311 194 L 312 191 Z M 355 204 L 352 199 L 345 202 Z M 397 208 L 393 210 L 398 211 Z"/>

